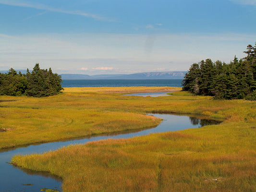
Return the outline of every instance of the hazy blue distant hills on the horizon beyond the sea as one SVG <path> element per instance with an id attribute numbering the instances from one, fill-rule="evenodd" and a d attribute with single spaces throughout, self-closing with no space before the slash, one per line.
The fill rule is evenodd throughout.
<path id="1" fill-rule="evenodd" d="M 62 80 L 91 80 L 91 79 L 183 79 L 186 72 L 140 72 L 134 74 L 61 74 Z"/>

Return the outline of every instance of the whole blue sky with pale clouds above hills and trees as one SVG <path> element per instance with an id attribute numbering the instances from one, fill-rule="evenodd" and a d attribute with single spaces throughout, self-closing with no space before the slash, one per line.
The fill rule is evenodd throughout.
<path id="1" fill-rule="evenodd" d="M 0 70 L 187 71 L 255 43 L 256 0 L 0 0 Z"/>

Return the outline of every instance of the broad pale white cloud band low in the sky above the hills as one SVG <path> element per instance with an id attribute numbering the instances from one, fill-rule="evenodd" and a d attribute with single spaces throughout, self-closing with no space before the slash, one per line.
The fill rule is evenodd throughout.
<path id="1" fill-rule="evenodd" d="M 200 60 L 245 57 L 256 34 L 0 34 L 0 70 L 40 67 L 61 73 L 185 71 Z M 150 37 L 151 38 L 151 37 Z M 145 45 L 152 47 L 145 51 Z M 170 62 L 171 61 L 171 62 Z M 4 65 L 4 66 L 3 66 Z M 82 70 L 82 69 L 84 70 Z M 87 68 L 87 70 L 85 70 Z"/>

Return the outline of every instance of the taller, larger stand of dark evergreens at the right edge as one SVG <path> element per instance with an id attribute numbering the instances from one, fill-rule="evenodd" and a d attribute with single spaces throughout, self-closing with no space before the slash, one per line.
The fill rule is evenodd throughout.
<path id="1" fill-rule="evenodd" d="M 247 56 L 230 63 L 201 60 L 193 63 L 183 79 L 183 90 L 216 99 L 256 100 L 256 44 L 247 46 Z"/>

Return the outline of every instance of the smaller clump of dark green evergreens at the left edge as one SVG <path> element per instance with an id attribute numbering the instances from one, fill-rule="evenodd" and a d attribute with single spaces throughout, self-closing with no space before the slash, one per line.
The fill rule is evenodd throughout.
<path id="1" fill-rule="evenodd" d="M 37 63 L 32 72 L 26 74 L 10 69 L 0 73 L 0 95 L 7 96 L 53 96 L 61 92 L 61 75 L 53 73 L 51 68 L 40 69 Z"/>

